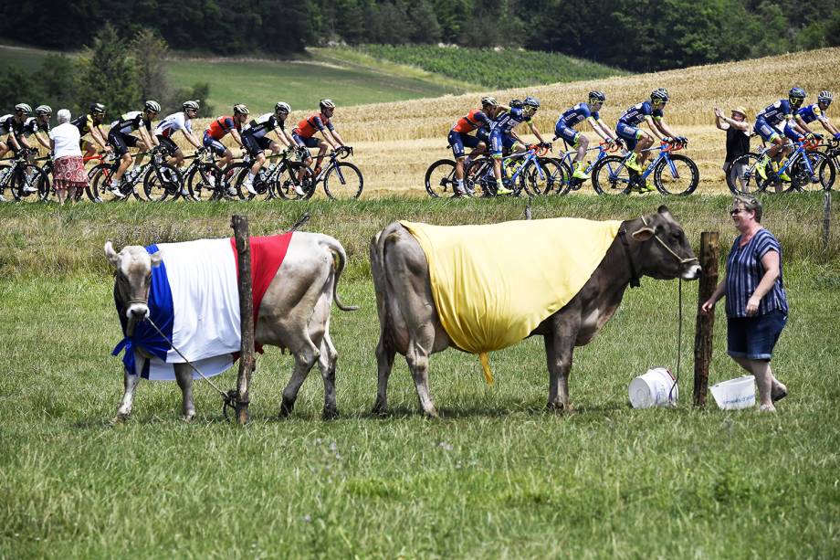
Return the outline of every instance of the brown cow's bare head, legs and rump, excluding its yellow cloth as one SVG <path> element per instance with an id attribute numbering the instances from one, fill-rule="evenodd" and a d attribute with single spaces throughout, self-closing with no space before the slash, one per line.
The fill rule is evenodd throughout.
<path id="1" fill-rule="evenodd" d="M 420 406 L 426 415 L 436 417 L 429 395 L 429 356 L 454 344 L 437 315 L 425 253 L 414 236 L 395 222 L 372 239 L 371 264 L 381 325 L 376 346 L 379 384 L 373 412 L 387 409 L 388 376 L 394 355 L 399 352 L 414 377 Z M 583 289 L 530 333 L 541 334 L 545 340 L 548 407 L 569 408 L 572 351 L 592 341 L 609 321 L 628 285 L 637 285 L 641 276 L 696 280 L 699 272 L 688 239 L 666 206 L 660 206 L 656 214 L 623 222 Z"/>

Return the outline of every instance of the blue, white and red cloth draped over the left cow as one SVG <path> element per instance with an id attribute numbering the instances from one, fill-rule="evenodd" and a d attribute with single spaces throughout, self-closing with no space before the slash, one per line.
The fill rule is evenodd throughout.
<path id="1" fill-rule="evenodd" d="M 293 232 L 250 238 L 254 322 L 271 281 L 289 250 Z M 240 314 L 236 240 L 199 239 L 161 243 L 146 247 L 160 252 L 160 264 L 152 268 L 148 318 L 172 341 L 181 354 L 205 376 L 219 375 L 233 365 L 240 348 Z M 174 380 L 175 364 L 184 358 L 149 321 L 138 322 L 127 332 L 125 305 L 114 293 L 123 339 L 112 354 L 124 351 L 122 363 L 135 371 L 135 349 L 152 356 L 143 358 L 142 377 Z"/>

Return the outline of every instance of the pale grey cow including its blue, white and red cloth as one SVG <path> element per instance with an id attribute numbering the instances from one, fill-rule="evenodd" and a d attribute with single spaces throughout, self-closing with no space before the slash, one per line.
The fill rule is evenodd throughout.
<path id="1" fill-rule="evenodd" d="M 250 238 L 254 341 L 289 349 L 294 371 L 280 408 L 288 415 L 298 390 L 317 362 L 324 382 L 324 417 L 337 414 L 337 352 L 330 338 L 331 302 L 343 311 L 338 280 L 347 259 L 338 240 L 289 232 Z M 127 246 L 110 241 L 105 255 L 116 269 L 114 302 L 123 339 L 125 393 L 117 418 L 131 414 L 140 378 L 175 379 L 183 393 L 184 419 L 195 416 L 192 363 L 205 377 L 233 365 L 241 344 L 236 240 L 199 239 Z"/>

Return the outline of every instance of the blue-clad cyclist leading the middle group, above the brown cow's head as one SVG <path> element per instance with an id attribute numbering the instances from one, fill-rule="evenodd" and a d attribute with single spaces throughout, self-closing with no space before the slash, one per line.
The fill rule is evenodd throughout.
<path id="1" fill-rule="evenodd" d="M 658 88 L 650 92 L 650 100 L 636 103 L 625 111 L 615 125 L 615 133 L 625 142 L 630 157 L 625 161 L 628 169 L 641 173 L 647 159 L 648 152 L 644 152 L 653 145 L 654 139 L 650 134 L 638 128 L 642 122 L 647 122 L 651 132 L 662 142 L 687 143 L 685 136 L 677 136 L 665 123 L 665 106 L 670 96 L 665 88 Z M 640 187 L 639 192 L 646 193 L 656 190 L 649 181 Z"/>

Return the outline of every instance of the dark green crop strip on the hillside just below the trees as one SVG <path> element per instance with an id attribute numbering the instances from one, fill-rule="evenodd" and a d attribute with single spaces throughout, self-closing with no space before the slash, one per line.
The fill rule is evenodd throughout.
<path id="1" fill-rule="evenodd" d="M 516 48 L 497 51 L 431 45 L 364 45 L 356 50 L 373 58 L 414 66 L 491 89 L 609 78 L 627 73 L 582 58 Z"/>

